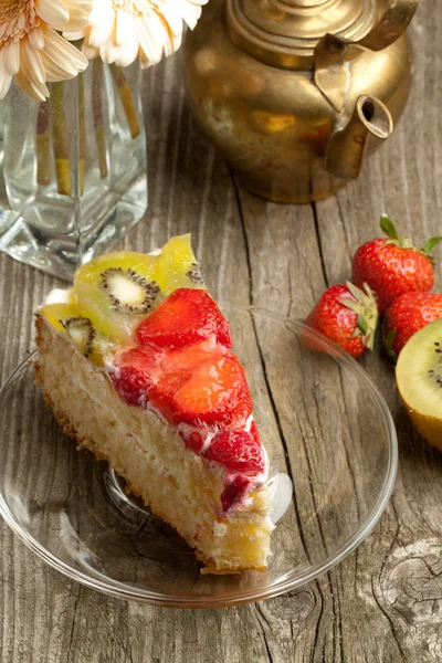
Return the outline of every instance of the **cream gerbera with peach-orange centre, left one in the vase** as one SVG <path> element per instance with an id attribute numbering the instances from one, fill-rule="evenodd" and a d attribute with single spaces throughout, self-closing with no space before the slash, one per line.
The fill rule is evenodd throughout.
<path id="1" fill-rule="evenodd" d="M 43 102 L 46 82 L 83 72 L 87 60 L 55 30 L 83 30 L 91 9 L 92 0 L 0 0 L 0 99 L 12 76 Z"/>

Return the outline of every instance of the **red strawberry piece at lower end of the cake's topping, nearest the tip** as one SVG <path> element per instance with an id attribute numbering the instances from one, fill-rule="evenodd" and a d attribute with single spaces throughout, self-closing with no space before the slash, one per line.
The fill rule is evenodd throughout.
<path id="1" fill-rule="evenodd" d="M 264 472 L 264 456 L 255 422 L 250 432 L 225 430 L 218 433 L 203 456 L 233 472 Z"/>

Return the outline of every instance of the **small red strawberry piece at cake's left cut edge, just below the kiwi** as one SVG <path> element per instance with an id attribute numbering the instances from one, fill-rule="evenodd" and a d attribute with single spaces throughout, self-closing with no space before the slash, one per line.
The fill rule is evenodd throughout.
<path id="1" fill-rule="evenodd" d="M 133 348 L 114 359 L 109 378 L 119 398 L 128 406 L 145 407 L 158 372 L 161 354 Z"/>

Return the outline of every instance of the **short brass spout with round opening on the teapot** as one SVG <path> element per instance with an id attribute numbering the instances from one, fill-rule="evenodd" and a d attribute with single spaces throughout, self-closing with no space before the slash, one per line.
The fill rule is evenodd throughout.
<path id="1" fill-rule="evenodd" d="M 393 130 L 387 106 L 372 96 L 359 96 L 345 127 L 332 135 L 326 155 L 326 170 L 344 180 L 356 179 L 362 168 L 370 136 L 386 140 Z"/>

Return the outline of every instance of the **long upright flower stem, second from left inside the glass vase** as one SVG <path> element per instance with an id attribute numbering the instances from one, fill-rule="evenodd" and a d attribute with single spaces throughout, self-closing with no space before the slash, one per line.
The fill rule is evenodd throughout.
<path id="1" fill-rule="evenodd" d="M 52 104 L 52 139 L 55 157 L 56 185 L 59 193 L 71 196 L 71 176 L 69 165 L 67 137 L 64 124 L 64 82 L 53 83 Z"/>

